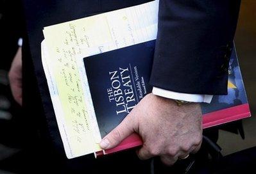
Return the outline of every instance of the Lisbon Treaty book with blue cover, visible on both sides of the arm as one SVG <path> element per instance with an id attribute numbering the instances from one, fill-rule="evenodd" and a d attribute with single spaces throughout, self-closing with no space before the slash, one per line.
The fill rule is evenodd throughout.
<path id="1" fill-rule="evenodd" d="M 149 85 L 155 40 L 84 58 L 101 137 L 112 131 L 152 90 Z M 230 59 L 228 95 L 201 104 L 203 127 L 250 116 L 235 49 Z"/>

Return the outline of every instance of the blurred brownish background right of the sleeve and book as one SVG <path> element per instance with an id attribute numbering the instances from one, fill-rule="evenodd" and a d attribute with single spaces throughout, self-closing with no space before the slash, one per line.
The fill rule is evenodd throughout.
<path id="1" fill-rule="evenodd" d="M 243 0 L 239 13 L 235 47 L 243 75 L 251 118 L 243 120 L 245 139 L 231 132 L 220 131 L 218 144 L 228 155 L 256 146 L 256 1 Z"/>

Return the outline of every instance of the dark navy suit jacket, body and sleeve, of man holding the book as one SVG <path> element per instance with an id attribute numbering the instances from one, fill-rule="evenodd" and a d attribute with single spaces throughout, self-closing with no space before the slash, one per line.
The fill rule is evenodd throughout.
<path id="1" fill-rule="evenodd" d="M 115 155 L 112 156 L 116 159 L 114 162 L 96 162 L 92 155 L 70 161 L 65 159 L 42 68 L 40 43 L 44 39 L 42 29 L 45 26 L 148 1 L 23 0 L 26 18 L 22 52 L 23 106 L 24 115 L 30 123 L 28 126 L 37 134 L 28 147 L 40 153 L 49 167 L 80 170 L 85 168 L 85 163 L 86 168 L 95 168 L 100 161 L 102 168 L 122 166 L 127 162 L 134 166 L 142 165 L 134 158 L 127 161 L 130 158 L 123 157 L 120 161 Z M 151 84 L 183 93 L 225 94 L 239 3 L 239 0 L 160 0 Z"/>

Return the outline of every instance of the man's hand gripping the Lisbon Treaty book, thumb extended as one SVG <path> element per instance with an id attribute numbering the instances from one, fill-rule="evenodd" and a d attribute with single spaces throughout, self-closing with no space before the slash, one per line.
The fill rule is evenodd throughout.
<path id="1" fill-rule="evenodd" d="M 101 148 L 114 148 L 133 132 L 137 132 L 143 141 L 142 148 L 137 152 L 140 159 L 160 156 L 164 164 L 173 165 L 178 158 L 185 158 L 200 149 L 200 104 L 178 106 L 171 99 L 150 93 L 103 138 Z"/>

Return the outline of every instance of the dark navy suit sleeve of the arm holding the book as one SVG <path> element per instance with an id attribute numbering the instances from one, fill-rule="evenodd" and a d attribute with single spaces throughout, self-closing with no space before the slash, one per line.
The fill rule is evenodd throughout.
<path id="1" fill-rule="evenodd" d="M 152 86 L 226 95 L 239 0 L 160 0 Z"/>

